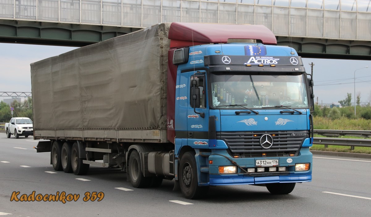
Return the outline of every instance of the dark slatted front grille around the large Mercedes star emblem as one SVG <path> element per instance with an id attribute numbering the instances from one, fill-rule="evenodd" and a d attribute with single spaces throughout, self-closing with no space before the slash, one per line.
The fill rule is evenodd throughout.
<path id="1" fill-rule="evenodd" d="M 260 146 L 260 137 L 264 134 L 275 135 L 273 145 L 269 149 Z M 259 132 L 220 132 L 220 139 L 226 142 L 233 155 L 241 157 L 267 157 L 298 155 L 305 138 L 309 137 L 309 131 L 259 131 Z M 255 136 L 254 136 L 255 135 Z"/>

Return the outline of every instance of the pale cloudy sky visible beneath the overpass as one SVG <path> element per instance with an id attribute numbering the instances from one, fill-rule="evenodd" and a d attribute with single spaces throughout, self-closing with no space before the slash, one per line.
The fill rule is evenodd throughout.
<path id="1" fill-rule="evenodd" d="M 31 92 L 30 63 L 76 48 L 0 43 L 0 92 Z M 361 104 L 371 101 L 371 60 L 303 58 L 307 73 L 311 72 L 312 62 L 315 102 L 318 98 L 320 105 L 331 104 L 344 100 L 347 93 L 352 94 L 354 102 L 354 71 L 356 95 L 361 92 Z M 0 101 L 8 98 L 0 96 Z"/>

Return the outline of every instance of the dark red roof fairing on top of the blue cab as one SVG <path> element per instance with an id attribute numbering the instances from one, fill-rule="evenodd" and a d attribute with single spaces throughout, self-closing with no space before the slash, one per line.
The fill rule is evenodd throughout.
<path id="1" fill-rule="evenodd" d="M 189 47 L 198 44 L 227 43 L 229 38 L 256 39 L 263 44 L 276 45 L 275 35 L 263 25 L 171 23 L 168 38 L 170 47 Z"/>

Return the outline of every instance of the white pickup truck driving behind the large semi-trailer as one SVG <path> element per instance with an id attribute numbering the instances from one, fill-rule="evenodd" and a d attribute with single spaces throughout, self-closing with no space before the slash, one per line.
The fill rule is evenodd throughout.
<path id="1" fill-rule="evenodd" d="M 32 136 L 33 135 L 33 124 L 29 118 L 12 118 L 9 123 L 5 123 L 6 136 L 10 138 L 10 135 L 14 134 L 16 139 L 19 136 Z"/>

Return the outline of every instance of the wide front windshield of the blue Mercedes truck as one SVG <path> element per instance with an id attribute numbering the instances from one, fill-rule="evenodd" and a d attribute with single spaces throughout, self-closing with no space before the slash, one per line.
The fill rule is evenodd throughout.
<path id="1" fill-rule="evenodd" d="M 295 75 L 211 74 L 210 79 L 214 108 L 236 109 L 237 105 L 244 105 L 246 108 L 278 105 L 308 108 L 305 77 L 301 73 Z M 237 108 L 240 109 L 240 106 Z"/>

